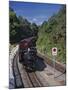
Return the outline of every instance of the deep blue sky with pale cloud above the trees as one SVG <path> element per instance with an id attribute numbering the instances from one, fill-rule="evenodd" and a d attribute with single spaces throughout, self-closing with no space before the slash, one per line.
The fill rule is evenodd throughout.
<path id="1" fill-rule="evenodd" d="M 52 15 L 56 14 L 62 5 L 9 1 L 9 6 L 17 16 L 22 16 L 31 23 L 41 25 L 43 21 L 48 21 Z"/>

